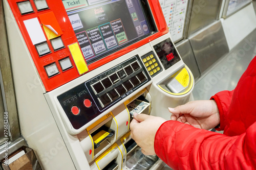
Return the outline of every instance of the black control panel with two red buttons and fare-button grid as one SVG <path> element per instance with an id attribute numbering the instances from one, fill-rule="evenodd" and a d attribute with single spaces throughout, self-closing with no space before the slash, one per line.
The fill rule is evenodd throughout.
<path id="1" fill-rule="evenodd" d="M 79 129 L 150 81 L 134 56 L 57 97 L 73 128 Z"/>

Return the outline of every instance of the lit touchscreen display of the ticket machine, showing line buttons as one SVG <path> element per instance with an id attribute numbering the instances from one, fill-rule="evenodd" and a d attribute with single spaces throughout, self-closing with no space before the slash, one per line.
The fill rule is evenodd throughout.
<path id="1" fill-rule="evenodd" d="M 141 2 L 62 0 L 88 64 L 152 33 Z"/>

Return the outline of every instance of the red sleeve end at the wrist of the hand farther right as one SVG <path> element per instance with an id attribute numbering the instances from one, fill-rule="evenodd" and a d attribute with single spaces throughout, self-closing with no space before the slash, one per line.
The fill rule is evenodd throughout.
<path id="1" fill-rule="evenodd" d="M 219 109 L 220 114 L 220 128 L 216 129 L 218 131 L 224 130 L 226 126 L 226 117 L 229 110 L 229 105 L 232 100 L 233 91 L 221 91 L 216 93 L 214 96 L 211 97 L 211 99 L 214 99 L 217 107 Z"/>

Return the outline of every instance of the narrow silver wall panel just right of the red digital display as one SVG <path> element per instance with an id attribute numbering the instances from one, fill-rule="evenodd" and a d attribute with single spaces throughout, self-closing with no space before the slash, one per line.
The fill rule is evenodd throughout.
<path id="1" fill-rule="evenodd" d="M 195 80 L 197 80 L 200 77 L 200 72 L 189 40 L 185 39 L 177 43 L 176 47 L 178 52 L 180 53 L 182 60 L 192 71 Z"/>

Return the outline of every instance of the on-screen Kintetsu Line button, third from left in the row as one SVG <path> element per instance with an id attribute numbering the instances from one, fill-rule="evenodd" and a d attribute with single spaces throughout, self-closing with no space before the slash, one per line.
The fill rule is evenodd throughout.
<path id="1" fill-rule="evenodd" d="M 106 47 L 108 47 L 108 49 L 117 45 L 116 38 L 112 31 L 110 23 L 106 23 L 105 25 L 99 26 L 99 29 L 101 31 Z"/>

